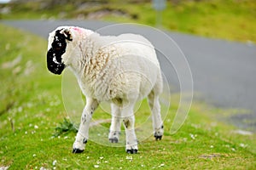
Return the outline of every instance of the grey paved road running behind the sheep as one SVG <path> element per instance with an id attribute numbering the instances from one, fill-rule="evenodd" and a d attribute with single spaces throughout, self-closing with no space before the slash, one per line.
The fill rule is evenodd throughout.
<path id="1" fill-rule="evenodd" d="M 26 31 L 48 37 L 49 31 L 57 26 L 82 26 L 92 30 L 108 26 L 109 23 L 99 21 L 2 21 L 2 23 L 19 27 Z M 146 37 L 152 35 L 150 29 L 134 26 L 136 33 Z M 111 29 L 110 29 L 111 30 Z M 103 34 L 118 34 L 131 31 L 127 26 L 119 26 L 117 30 Z M 166 32 L 169 37 L 177 42 L 182 49 L 192 71 L 194 80 L 195 99 L 201 99 L 209 104 L 224 108 L 245 109 L 250 114 L 234 116 L 233 122 L 240 127 L 255 129 L 256 121 L 252 124 L 242 124 L 242 119 L 256 119 L 256 46 L 239 42 L 226 42 L 202 37 L 193 37 L 179 33 Z M 162 42 L 160 37 L 150 37 L 161 48 L 170 49 L 170 45 Z M 169 51 L 170 52 L 170 51 Z M 169 53 L 170 54 L 170 53 Z M 168 54 L 168 55 L 169 55 Z M 170 54 L 170 56 L 173 54 Z M 160 59 L 161 60 L 161 59 Z M 178 80 L 172 65 L 161 65 L 169 82 L 178 88 Z M 233 118 L 234 118 L 233 117 Z"/>

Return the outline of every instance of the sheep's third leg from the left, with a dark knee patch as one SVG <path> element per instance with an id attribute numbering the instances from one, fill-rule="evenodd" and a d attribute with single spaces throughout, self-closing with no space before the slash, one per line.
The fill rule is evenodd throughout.
<path id="1" fill-rule="evenodd" d="M 125 134 L 126 134 L 126 152 L 129 154 L 137 153 L 137 137 L 135 134 L 135 118 L 133 114 L 133 105 L 127 106 L 122 111 L 124 116 Z"/>

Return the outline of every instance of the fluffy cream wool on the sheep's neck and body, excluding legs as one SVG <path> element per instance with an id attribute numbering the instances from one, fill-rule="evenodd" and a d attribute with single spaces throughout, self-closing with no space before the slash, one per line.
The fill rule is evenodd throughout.
<path id="1" fill-rule="evenodd" d="M 78 78 L 85 96 L 113 102 L 143 99 L 157 78 L 160 81 L 160 65 L 146 38 L 135 34 L 102 37 L 79 27 L 60 29 L 71 31 L 73 41 L 67 42 L 62 60 Z"/>

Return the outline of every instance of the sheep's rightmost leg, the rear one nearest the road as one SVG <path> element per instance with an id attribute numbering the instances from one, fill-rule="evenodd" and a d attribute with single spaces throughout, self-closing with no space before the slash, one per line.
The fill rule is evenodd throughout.
<path id="1" fill-rule="evenodd" d="M 160 115 L 159 96 L 154 93 L 154 90 L 152 90 L 152 92 L 148 94 L 148 105 L 152 112 L 154 138 L 156 140 L 162 139 L 164 133 L 164 126 Z"/>

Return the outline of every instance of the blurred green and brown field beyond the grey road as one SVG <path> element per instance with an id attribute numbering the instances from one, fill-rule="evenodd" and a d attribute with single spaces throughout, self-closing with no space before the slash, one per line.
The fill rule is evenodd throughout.
<path id="1" fill-rule="evenodd" d="M 256 42 L 254 0 L 167 0 L 157 12 L 150 0 L 13 0 L 0 4 L 1 20 L 108 20 L 135 22 L 202 37 Z"/>

